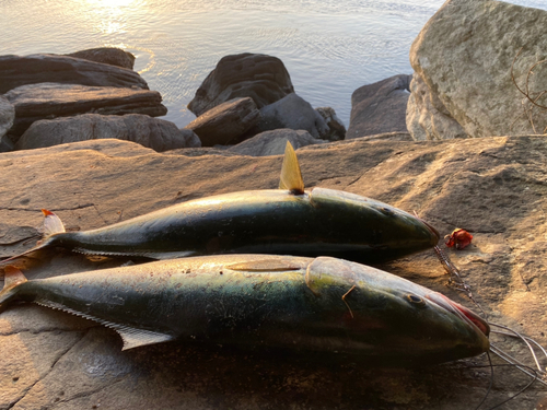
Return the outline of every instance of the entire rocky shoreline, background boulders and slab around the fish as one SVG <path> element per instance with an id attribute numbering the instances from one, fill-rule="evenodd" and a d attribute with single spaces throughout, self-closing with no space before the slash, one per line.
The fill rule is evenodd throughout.
<path id="1" fill-rule="evenodd" d="M 123 50 L 0 57 L 0 258 L 35 244 L 42 208 L 69 230 L 88 230 L 194 198 L 277 188 L 291 141 L 306 187 L 416 211 L 442 235 L 469 231 L 472 245 L 447 253 L 489 320 L 547 345 L 547 115 L 511 75 L 521 47 L 516 84 L 545 58 L 544 23 L 545 11 L 447 1 L 414 43 L 412 75 L 356 90 L 347 131 L 333 108 L 313 108 L 294 93 L 271 56 L 221 59 L 184 129 L 156 118 L 165 112 L 161 95 Z M 537 99 L 547 90 L 542 69 L 528 90 L 546 105 Z M 60 253 L 26 273 L 119 263 Z M 432 251 L 381 268 L 478 309 L 447 285 Z M 531 363 L 522 343 L 491 339 Z M 188 343 L 121 352 L 113 330 L 35 305 L 0 315 L 0 409 L 464 410 L 490 383 L 484 358 L 400 370 Z M 496 367 L 485 408 L 526 383 L 519 371 Z M 547 408 L 546 389 L 535 383 L 503 408 Z"/>

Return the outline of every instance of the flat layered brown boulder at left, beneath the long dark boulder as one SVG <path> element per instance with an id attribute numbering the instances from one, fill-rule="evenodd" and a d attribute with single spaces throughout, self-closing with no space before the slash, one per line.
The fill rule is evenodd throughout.
<path id="1" fill-rule="evenodd" d="M 150 90 L 40 83 L 23 85 L 4 95 L 15 107 L 15 121 L 9 131 L 14 140 L 39 119 L 86 113 L 152 117 L 167 114 L 160 93 Z"/>

